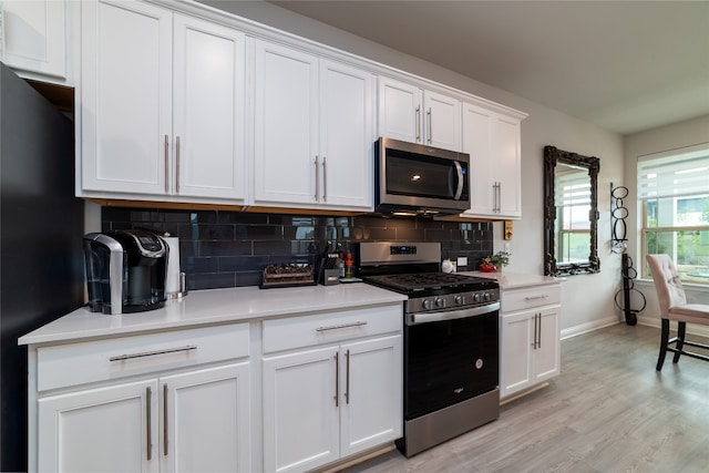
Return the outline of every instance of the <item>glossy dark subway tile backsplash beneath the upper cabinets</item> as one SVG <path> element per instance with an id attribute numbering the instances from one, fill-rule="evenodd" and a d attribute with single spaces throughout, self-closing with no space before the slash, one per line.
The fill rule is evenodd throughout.
<path id="1" fill-rule="evenodd" d="M 257 286 L 268 265 L 315 265 L 328 241 L 345 251 L 360 241 L 440 241 L 442 256 L 466 256 L 469 270 L 493 250 L 493 225 L 484 222 L 102 207 L 101 224 L 104 232 L 150 228 L 178 236 L 181 268 L 193 290 Z"/>

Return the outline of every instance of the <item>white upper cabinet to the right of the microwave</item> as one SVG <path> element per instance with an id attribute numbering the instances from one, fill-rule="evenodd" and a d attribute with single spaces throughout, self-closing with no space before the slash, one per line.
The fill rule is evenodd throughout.
<path id="1" fill-rule="evenodd" d="M 470 154 L 470 217 L 522 216 L 522 116 L 463 104 L 463 152 Z"/>

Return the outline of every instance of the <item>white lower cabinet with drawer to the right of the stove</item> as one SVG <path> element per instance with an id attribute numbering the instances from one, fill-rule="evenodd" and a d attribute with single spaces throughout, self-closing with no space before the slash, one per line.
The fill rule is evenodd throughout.
<path id="1" fill-rule="evenodd" d="M 502 399 L 558 376 L 559 296 L 558 284 L 503 291 L 500 318 Z"/>

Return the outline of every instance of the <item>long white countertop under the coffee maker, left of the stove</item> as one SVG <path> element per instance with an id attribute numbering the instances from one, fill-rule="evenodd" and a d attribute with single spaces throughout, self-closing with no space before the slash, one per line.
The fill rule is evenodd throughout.
<path id="1" fill-rule="evenodd" d="M 207 323 L 347 309 L 405 300 L 397 292 L 361 282 L 259 289 L 240 287 L 191 291 L 181 300 L 145 312 L 106 316 L 82 307 L 20 337 L 19 345 L 116 337 Z"/>

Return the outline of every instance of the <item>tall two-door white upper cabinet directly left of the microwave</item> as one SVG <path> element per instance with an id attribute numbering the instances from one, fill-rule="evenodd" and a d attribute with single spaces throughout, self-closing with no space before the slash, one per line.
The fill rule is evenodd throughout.
<path id="1" fill-rule="evenodd" d="M 254 202 L 371 209 L 371 74 L 255 40 L 254 88 Z"/>

